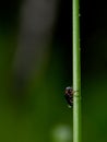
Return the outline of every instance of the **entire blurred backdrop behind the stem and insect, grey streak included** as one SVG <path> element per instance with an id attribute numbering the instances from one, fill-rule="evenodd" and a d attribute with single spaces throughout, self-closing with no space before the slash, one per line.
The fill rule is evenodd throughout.
<path id="1" fill-rule="evenodd" d="M 81 0 L 82 137 L 107 141 L 106 0 Z M 72 1 L 0 3 L 0 141 L 71 142 Z"/>

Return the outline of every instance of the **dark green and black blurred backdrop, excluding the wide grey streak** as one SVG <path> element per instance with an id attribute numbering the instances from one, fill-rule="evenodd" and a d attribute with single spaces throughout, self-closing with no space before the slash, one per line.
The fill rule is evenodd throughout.
<path id="1" fill-rule="evenodd" d="M 22 103 L 11 95 L 12 61 L 16 47 L 21 2 L 10 0 L 0 3 L 0 141 L 71 141 L 72 109 L 67 107 L 63 97 L 64 87 L 72 84 L 71 2 L 61 1 L 47 66 L 39 71 L 38 78 L 33 76 L 24 94 L 25 102 Z M 82 138 L 83 142 L 106 142 L 106 0 L 81 0 L 80 5 Z M 59 140 L 60 133 L 66 140 Z"/>

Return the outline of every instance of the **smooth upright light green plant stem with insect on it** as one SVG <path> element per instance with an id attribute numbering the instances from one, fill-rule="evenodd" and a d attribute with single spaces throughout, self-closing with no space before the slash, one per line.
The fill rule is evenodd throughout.
<path id="1" fill-rule="evenodd" d="M 79 0 L 73 0 L 73 142 L 81 142 L 81 61 Z"/>

